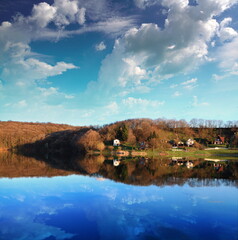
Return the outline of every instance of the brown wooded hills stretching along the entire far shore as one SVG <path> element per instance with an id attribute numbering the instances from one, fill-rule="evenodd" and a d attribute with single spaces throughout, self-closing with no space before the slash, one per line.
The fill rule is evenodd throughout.
<path id="1" fill-rule="evenodd" d="M 101 127 L 74 127 L 53 123 L 0 122 L 0 148 L 41 149 L 54 151 L 103 150 L 112 146 L 113 139 L 124 145 L 139 147 L 146 143 L 148 148 L 161 150 L 172 144 L 195 139 L 195 147 L 212 144 L 217 136 L 224 138 L 225 144 L 238 146 L 238 121 L 210 121 L 193 119 L 130 119 Z M 33 144 L 32 144 L 33 143 Z M 27 145 L 26 145 L 27 144 Z M 30 144 L 30 145 L 29 145 Z"/>

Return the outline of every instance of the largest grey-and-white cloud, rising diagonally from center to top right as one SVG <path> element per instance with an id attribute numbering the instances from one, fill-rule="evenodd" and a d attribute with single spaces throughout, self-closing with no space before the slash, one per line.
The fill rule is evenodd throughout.
<path id="1" fill-rule="evenodd" d="M 149 1 L 135 1 L 141 8 Z M 98 98 L 128 95 L 136 87 L 146 87 L 189 73 L 200 64 L 210 61 L 209 47 L 219 32 L 216 16 L 237 3 L 236 0 L 198 0 L 190 5 L 188 0 L 153 1 L 167 10 L 165 24 L 141 24 L 130 28 L 115 41 L 111 54 L 102 61 L 97 82 L 91 82 L 89 92 L 97 89 Z M 223 26 L 227 26 L 226 24 Z M 197 79 L 189 80 L 183 88 L 191 90 Z"/>

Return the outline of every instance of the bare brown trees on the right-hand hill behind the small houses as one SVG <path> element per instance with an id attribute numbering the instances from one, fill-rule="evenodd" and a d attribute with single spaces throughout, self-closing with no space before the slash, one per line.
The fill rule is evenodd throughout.
<path id="1" fill-rule="evenodd" d="M 149 147 L 155 148 L 168 147 L 171 142 L 186 142 L 189 138 L 196 140 L 195 147 L 201 147 L 213 143 L 218 136 L 224 137 L 226 144 L 237 145 L 238 136 L 235 133 L 238 131 L 238 121 L 221 123 L 201 119 L 192 119 L 189 123 L 185 120 L 130 119 L 104 125 L 99 133 L 105 142 L 118 138 L 131 145 L 146 142 Z M 218 124 L 220 127 L 217 127 Z"/>

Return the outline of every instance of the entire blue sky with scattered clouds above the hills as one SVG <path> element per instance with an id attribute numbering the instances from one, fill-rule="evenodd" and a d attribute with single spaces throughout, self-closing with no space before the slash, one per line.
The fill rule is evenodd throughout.
<path id="1" fill-rule="evenodd" d="M 237 120 L 238 0 L 1 0 L 0 120 Z"/>

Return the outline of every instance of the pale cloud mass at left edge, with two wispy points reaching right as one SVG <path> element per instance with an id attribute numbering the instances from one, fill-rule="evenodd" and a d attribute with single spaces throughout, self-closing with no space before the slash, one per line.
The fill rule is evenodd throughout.
<path id="1" fill-rule="evenodd" d="M 48 87 L 48 84 L 44 88 L 38 86 L 48 83 L 48 77 L 60 75 L 69 69 L 76 69 L 74 64 L 65 62 L 48 64 L 40 61 L 34 56 L 30 46 L 23 42 L 8 41 L 0 51 L 2 53 L 0 55 L 2 116 L 5 112 L 8 114 L 9 111 L 16 111 L 17 113 L 23 108 L 32 111 L 28 113 L 31 115 L 34 112 L 33 109 L 38 109 L 35 106 L 36 103 L 55 105 L 73 97 L 60 93 L 56 88 Z M 23 114 L 21 115 L 23 117 Z M 12 119 L 14 119 L 13 116 Z"/>

